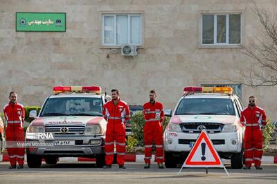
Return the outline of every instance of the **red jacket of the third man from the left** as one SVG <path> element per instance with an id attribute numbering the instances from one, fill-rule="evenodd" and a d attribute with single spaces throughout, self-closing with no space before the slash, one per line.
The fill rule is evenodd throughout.
<path id="1" fill-rule="evenodd" d="M 155 103 L 145 103 L 143 105 L 143 114 L 145 121 L 160 121 L 163 122 L 164 112 L 163 103 L 156 101 Z"/>

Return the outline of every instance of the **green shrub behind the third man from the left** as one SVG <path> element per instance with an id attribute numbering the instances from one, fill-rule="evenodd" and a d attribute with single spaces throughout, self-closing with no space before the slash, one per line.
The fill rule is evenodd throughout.
<path id="1" fill-rule="evenodd" d="M 166 126 L 170 117 L 165 117 L 163 121 L 163 131 L 165 130 Z M 143 135 L 143 127 L 145 121 L 143 118 L 143 112 L 136 112 L 131 116 L 131 130 L 133 132 L 134 139 L 138 141 L 138 146 L 144 146 L 144 135 Z"/>

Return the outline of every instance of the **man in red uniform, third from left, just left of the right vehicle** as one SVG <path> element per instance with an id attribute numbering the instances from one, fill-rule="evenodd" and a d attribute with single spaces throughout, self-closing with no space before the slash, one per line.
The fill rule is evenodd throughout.
<path id="1" fill-rule="evenodd" d="M 164 119 L 163 104 L 156 101 L 155 90 L 150 91 L 150 102 L 143 105 L 144 125 L 144 145 L 145 145 L 145 169 L 150 168 L 152 156 L 152 144 L 156 147 L 156 160 L 158 167 L 163 169 L 163 126 Z"/>

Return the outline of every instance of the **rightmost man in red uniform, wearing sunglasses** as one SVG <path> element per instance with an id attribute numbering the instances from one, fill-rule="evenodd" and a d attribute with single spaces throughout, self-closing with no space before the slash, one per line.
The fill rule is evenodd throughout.
<path id="1" fill-rule="evenodd" d="M 245 126 L 244 132 L 244 170 L 250 170 L 254 163 L 256 170 L 262 170 L 260 167 L 262 159 L 262 130 L 267 125 L 267 116 L 265 110 L 257 106 L 255 96 L 249 97 L 249 105 L 242 110 L 240 122 Z"/>

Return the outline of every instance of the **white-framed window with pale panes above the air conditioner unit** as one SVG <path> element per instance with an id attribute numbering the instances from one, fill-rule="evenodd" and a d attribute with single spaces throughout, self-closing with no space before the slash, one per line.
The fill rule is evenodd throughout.
<path id="1" fill-rule="evenodd" d="M 141 14 L 103 14 L 102 45 L 141 45 Z"/>

